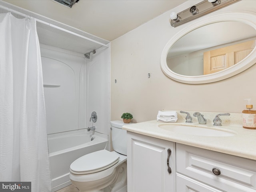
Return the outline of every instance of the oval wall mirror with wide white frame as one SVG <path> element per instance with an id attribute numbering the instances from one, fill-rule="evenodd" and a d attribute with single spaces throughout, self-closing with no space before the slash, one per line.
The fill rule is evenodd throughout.
<path id="1" fill-rule="evenodd" d="M 171 38 L 162 52 L 161 68 L 178 82 L 216 82 L 255 64 L 255 45 L 255 13 L 213 14 Z"/>

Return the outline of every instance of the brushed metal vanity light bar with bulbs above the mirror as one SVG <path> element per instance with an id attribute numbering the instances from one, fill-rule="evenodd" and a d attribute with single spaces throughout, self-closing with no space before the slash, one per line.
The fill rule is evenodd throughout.
<path id="1" fill-rule="evenodd" d="M 204 0 L 178 14 L 172 12 L 170 14 L 171 26 L 177 27 L 238 1 L 240 0 Z"/>

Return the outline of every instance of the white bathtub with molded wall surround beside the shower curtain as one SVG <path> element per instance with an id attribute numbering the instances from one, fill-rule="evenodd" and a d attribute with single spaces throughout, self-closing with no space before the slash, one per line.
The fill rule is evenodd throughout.
<path id="1" fill-rule="evenodd" d="M 59 85 L 44 87 L 52 191 L 56 191 L 71 184 L 69 167 L 76 158 L 108 149 L 101 141 L 108 141 L 108 50 L 97 49 L 89 61 L 80 53 L 40 46 L 44 84 Z M 90 122 L 92 111 L 98 114 L 95 123 Z M 95 131 L 85 129 L 92 126 Z"/>

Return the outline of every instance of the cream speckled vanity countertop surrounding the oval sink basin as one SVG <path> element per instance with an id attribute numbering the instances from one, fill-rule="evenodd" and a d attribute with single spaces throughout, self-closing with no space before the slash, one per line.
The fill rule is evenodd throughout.
<path id="1" fill-rule="evenodd" d="M 238 114 L 236 117 L 240 117 L 240 115 L 241 114 Z M 178 114 L 178 116 L 183 118 L 180 114 Z M 225 118 L 223 117 L 223 119 Z M 184 123 L 182 123 L 182 121 Z M 236 134 L 234 136 L 197 136 L 180 134 L 159 128 L 158 125 L 163 124 L 163 122 L 157 122 L 156 120 L 124 125 L 122 128 L 130 132 L 154 138 L 256 160 L 256 130 L 245 129 L 241 124 L 230 124 L 229 120 L 222 120 L 223 126 L 213 126 L 212 123 L 210 123 L 210 120 L 208 120 L 208 122 L 206 125 L 202 126 L 220 130 L 226 129 L 231 132 L 236 132 Z M 198 124 L 197 119 L 193 119 L 193 123 L 185 123 L 182 119 L 180 122 L 168 124 L 201 126 Z M 191 127 L 191 129 L 193 129 L 193 127 Z"/>

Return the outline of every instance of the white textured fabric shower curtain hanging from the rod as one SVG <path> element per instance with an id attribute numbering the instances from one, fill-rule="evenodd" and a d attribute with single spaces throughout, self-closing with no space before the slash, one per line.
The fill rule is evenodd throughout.
<path id="1" fill-rule="evenodd" d="M 0 14 L 0 182 L 50 192 L 42 65 L 35 19 Z"/>

